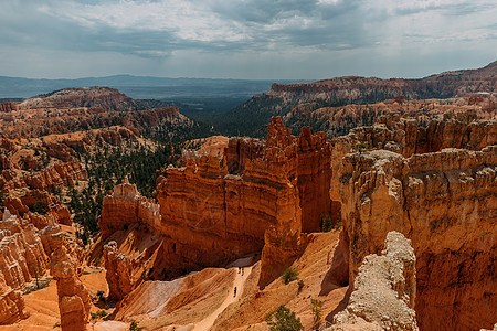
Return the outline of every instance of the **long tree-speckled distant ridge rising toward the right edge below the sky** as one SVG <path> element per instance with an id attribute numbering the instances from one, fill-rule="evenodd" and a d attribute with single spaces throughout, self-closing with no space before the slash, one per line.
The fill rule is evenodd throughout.
<path id="1" fill-rule="evenodd" d="M 416 115 L 431 110 L 431 106 L 426 108 L 411 103 L 417 111 L 412 113 L 405 100 L 478 95 L 484 102 L 495 102 L 496 94 L 497 62 L 478 70 L 446 72 L 421 79 L 349 76 L 315 83 L 273 84 L 268 92 L 223 115 L 214 126 L 229 136 L 263 137 L 265 125 L 272 116 L 278 115 L 294 135 L 303 126 L 310 126 L 313 130 L 336 137 L 353 127 L 371 125 L 378 116 L 392 111 L 391 104 L 394 103 L 401 105 L 396 109 L 393 107 L 395 111 Z"/>

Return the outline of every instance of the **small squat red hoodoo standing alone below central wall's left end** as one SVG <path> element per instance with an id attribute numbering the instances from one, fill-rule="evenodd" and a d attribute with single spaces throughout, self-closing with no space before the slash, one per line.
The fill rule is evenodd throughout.
<path id="1" fill-rule="evenodd" d="M 108 298 L 120 300 L 135 288 L 131 261 L 128 256 L 117 252 L 117 243 L 109 242 L 104 246 L 105 279 L 108 284 Z"/>

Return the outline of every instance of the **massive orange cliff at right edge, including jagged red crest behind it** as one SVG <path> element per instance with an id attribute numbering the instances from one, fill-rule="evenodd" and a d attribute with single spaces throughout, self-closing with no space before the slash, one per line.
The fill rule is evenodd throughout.
<path id="1" fill-rule="evenodd" d="M 400 125 L 391 137 L 383 125 L 335 141 L 331 195 L 341 201 L 349 278 L 366 255 L 381 250 L 388 232 L 401 232 L 417 258 L 420 328 L 490 328 L 497 307 L 497 122 L 447 117 L 426 129 L 410 120 Z M 359 135 L 364 130 L 371 134 Z M 349 152 L 361 139 L 396 152 L 364 150 L 338 163 L 335 152 Z M 445 148 L 451 145 L 457 149 Z"/>

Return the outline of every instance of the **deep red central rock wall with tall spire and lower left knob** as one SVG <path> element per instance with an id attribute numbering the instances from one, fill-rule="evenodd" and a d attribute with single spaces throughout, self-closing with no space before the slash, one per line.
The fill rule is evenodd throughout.
<path id="1" fill-rule="evenodd" d="M 129 183 L 104 199 L 103 242 L 145 224 L 162 236 L 160 255 L 169 271 L 262 252 L 266 282 L 299 254 L 302 231 L 319 231 L 330 211 L 330 152 L 324 134 L 304 129 L 294 137 L 279 117 L 269 124 L 265 142 L 233 138 L 221 157 L 186 151 L 183 167 L 170 167 L 158 179 L 159 205 Z"/>

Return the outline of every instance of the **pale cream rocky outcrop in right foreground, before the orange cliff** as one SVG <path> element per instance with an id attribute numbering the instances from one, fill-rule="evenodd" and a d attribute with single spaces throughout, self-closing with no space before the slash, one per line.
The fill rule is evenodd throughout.
<path id="1" fill-rule="evenodd" d="M 390 232 L 381 255 L 364 257 L 347 308 L 327 330 L 419 330 L 415 264 L 411 241 Z"/>

